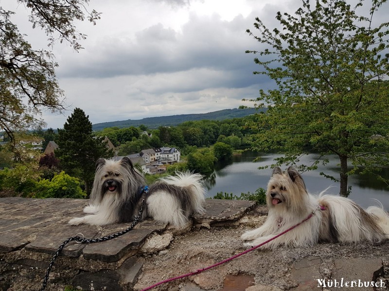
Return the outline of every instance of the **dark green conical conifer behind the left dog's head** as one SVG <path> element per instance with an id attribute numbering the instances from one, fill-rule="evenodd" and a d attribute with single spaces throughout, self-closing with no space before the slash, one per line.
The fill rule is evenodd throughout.
<path id="1" fill-rule="evenodd" d="M 112 157 L 101 137 L 92 136 L 92 123 L 82 109 L 75 108 L 63 129 L 58 129 L 55 156 L 61 168 L 70 176 L 84 181 L 87 194 L 94 178 L 95 163 L 99 158 Z"/>

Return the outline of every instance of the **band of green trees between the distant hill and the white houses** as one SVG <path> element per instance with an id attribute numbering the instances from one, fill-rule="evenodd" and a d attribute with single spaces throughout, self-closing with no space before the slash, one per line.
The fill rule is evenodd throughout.
<path id="1" fill-rule="evenodd" d="M 177 147 L 185 155 L 193 151 L 193 146 L 209 147 L 217 142 L 230 145 L 233 149 L 249 146 L 252 132 L 246 125 L 253 118 L 254 116 L 246 116 L 223 121 L 187 121 L 178 126 L 160 126 L 158 129 L 147 129 L 144 125 L 124 129 L 111 127 L 95 134 L 108 137 L 121 156 L 162 146 Z"/>

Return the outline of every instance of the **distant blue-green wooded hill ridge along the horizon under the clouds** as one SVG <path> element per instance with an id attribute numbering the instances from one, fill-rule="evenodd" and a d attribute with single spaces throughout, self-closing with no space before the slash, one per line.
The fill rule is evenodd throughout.
<path id="1" fill-rule="evenodd" d="M 255 108 L 245 108 L 245 109 L 224 109 L 209 113 L 196 113 L 196 114 L 179 114 L 171 116 L 159 116 L 159 117 L 147 117 L 138 120 L 122 120 L 122 121 L 112 121 L 112 122 L 103 122 L 96 123 L 92 125 L 93 130 L 101 130 L 108 127 L 118 127 L 126 128 L 130 126 L 139 127 L 141 124 L 146 126 L 149 129 L 156 129 L 159 126 L 177 126 L 180 123 L 185 121 L 193 120 L 224 120 L 232 119 L 238 117 L 244 117 L 250 114 L 258 113 L 258 110 Z"/>

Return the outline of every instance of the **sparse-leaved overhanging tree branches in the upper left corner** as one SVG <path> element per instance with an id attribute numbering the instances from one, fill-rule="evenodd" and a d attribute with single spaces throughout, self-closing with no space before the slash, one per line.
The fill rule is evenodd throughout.
<path id="1" fill-rule="evenodd" d="M 79 41 L 86 38 L 73 24 L 76 20 L 88 20 L 95 24 L 100 14 L 85 6 L 88 0 L 17 0 L 30 9 L 33 28 L 46 32 L 49 45 L 66 41 L 78 51 Z M 42 109 L 62 111 L 64 93 L 59 88 L 54 68 L 53 54 L 44 49 L 35 50 L 24 39 L 24 34 L 11 22 L 14 12 L 0 7 L 0 129 L 5 130 L 14 147 L 15 131 L 40 128 L 45 125 L 39 119 Z M 25 101 L 26 100 L 26 101 Z M 18 158 L 18 156 L 17 156 Z"/>

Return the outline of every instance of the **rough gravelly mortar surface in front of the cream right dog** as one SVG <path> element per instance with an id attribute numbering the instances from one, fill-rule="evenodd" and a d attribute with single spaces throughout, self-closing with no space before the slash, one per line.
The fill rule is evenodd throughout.
<path id="1" fill-rule="evenodd" d="M 144 265 L 134 289 L 141 290 L 161 280 L 207 267 L 245 251 L 247 247 L 240 241 L 241 234 L 260 226 L 265 218 L 266 216 L 248 215 L 235 226 L 193 228 L 185 234 L 174 235 L 174 240 L 168 248 L 139 258 L 144 260 Z M 228 275 L 249 275 L 254 278 L 256 285 L 273 287 L 257 290 L 289 290 L 298 286 L 298 282 L 291 278 L 294 265 L 310 256 L 320 257 L 321 278 L 331 277 L 335 261 L 339 259 L 378 258 L 388 267 L 389 240 L 374 245 L 367 242 L 320 243 L 311 248 L 254 250 L 201 274 L 170 282 L 153 290 L 176 291 L 188 283 L 195 283 L 201 288 L 197 290 L 222 290 Z"/>

